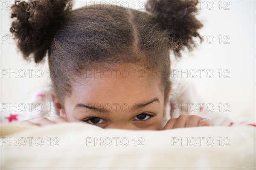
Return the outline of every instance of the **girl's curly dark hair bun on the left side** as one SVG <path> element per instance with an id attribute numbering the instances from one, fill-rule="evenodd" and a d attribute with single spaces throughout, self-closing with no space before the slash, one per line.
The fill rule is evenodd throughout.
<path id="1" fill-rule="evenodd" d="M 43 60 L 53 37 L 72 8 L 71 0 L 16 0 L 12 5 L 10 32 L 18 40 L 17 46 L 23 58 L 34 58 L 35 63 Z"/>

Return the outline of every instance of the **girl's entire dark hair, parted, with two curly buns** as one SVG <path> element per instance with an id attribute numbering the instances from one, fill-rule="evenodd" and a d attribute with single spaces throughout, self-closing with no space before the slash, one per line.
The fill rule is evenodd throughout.
<path id="1" fill-rule="evenodd" d="M 26 60 L 43 61 L 48 53 L 56 95 L 70 95 L 74 75 L 99 63 L 143 63 L 160 73 L 166 98 L 171 88 L 170 52 L 192 50 L 202 38 L 195 17 L 198 0 L 148 0 L 146 11 L 120 6 L 84 6 L 72 0 L 16 0 L 10 32 Z M 56 76 L 58 75 L 58 76 Z"/>

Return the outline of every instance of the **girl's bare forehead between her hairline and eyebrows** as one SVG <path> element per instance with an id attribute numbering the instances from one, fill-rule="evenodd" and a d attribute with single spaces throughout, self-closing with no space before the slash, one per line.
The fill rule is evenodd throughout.
<path id="1" fill-rule="evenodd" d="M 71 98 L 76 101 L 134 102 L 160 98 L 160 77 L 136 64 L 114 64 L 84 70 L 72 84 Z M 138 100 L 139 100 L 138 99 Z"/>

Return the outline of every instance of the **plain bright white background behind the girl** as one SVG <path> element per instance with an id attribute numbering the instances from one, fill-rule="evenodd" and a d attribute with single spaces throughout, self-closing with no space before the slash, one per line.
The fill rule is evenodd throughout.
<path id="1" fill-rule="evenodd" d="M 75 1 L 73 9 L 84 6 L 89 1 Z M 95 1 L 90 1 L 95 2 Z M 97 1 L 100 3 L 101 1 Z M 114 1 L 102 1 L 102 3 Z M 29 103 L 34 95 L 35 90 L 44 86 L 49 73 L 47 72 L 47 62 L 36 66 L 35 63 L 23 60 L 20 53 L 17 52 L 15 41 L 11 39 L 9 28 L 12 20 L 10 19 L 10 6 L 13 1 L 1 0 L 0 10 L 0 66 L 1 66 L 1 82 L 0 82 L 0 102 L 11 104 Z M 123 0 L 117 1 L 117 5 L 138 9 L 145 1 Z M 212 4 L 214 6 L 212 6 Z M 221 6 L 220 6 L 221 4 Z M 144 7 L 142 6 L 142 9 Z M 226 112 L 231 116 L 251 117 L 255 119 L 255 80 L 256 80 L 256 2 L 254 0 L 228 0 L 228 1 L 200 1 L 198 18 L 204 23 L 204 28 L 200 30 L 204 35 L 205 41 L 200 44 L 197 40 L 198 48 L 192 53 L 185 53 L 184 58 L 172 67 L 172 69 L 205 69 L 203 77 L 200 78 L 199 73 L 196 78 L 192 78 L 194 73 L 188 78 L 193 81 L 198 94 L 209 103 L 222 105 L 230 104 L 230 112 Z M 200 9 L 201 8 L 201 9 Z M 224 10 L 226 9 L 226 10 Z M 221 35 L 221 43 L 220 36 Z M 208 39 L 206 37 L 208 36 Z M 226 37 L 224 37 L 226 36 Z M 214 38 L 212 41 L 211 37 Z M 230 38 L 229 40 L 228 37 Z M 229 44 L 224 44 L 224 41 Z M 9 70 L 10 69 L 10 70 Z M 17 69 L 17 78 L 15 72 Z M 26 76 L 21 69 L 26 70 Z M 31 71 L 32 78 L 29 77 Z M 41 75 L 42 69 L 44 75 Z M 214 71 L 213 78 L 208 78 L 211 74 L 206 75 L 206 70 Z M 219 78 L 219 69 L 222 70 L 221 78 Z M 223 78 L 224 69 L 230 71 L 230 78 Z M 3 74 L 5 71 L 8 73 Z M 37 74 L 36 74 L 37 73 Z M 210 72 L 208 72 L 210 73 Z M 20 75 L 20 76 L 19 76 Z M 183 78 L 185 75 L 182 75 Z M 215 105 L 215 106 L 216 106 Z"/>

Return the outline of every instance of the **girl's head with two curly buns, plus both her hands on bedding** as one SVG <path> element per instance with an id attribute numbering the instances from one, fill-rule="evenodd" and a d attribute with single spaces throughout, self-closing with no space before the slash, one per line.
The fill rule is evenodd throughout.
<path id="1" fill-rule="evenodd" d="M 163 118 L 172 90 L 170 52 L 192 50 L 203 25 L 198 0 L 148 0 L 146 12 L 71 0 L 16 0 L 10 32 L 26 60 L 48 55 L 58 116 L 23 124 L 85 122 L 102 128 L 166 130 L 212 126 L 198 115 Z M 169 114 L 169 113 L 167 113 Z"/>

